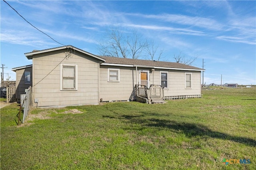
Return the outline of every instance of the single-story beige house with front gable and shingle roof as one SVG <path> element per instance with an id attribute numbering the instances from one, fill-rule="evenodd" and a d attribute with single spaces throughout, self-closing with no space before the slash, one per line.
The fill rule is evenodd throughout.
<path id="1" fill-rule="evenodd" d="M 133 101 L 137 84 L 162 85 L 164 97 L 201 97 L 198 67 L 97 56 L 72 45 L 25 53 L 32 65 L 13 68 L 19 97 L 32 86 L 38 107 Z"/>

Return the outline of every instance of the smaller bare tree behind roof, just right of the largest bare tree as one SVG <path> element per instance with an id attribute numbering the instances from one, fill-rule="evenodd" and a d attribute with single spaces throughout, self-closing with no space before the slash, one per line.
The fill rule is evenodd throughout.
<path id="1" fill-rule="evenodd" d="M 149 59 L 152 61 L 159 61 L 162 57 L 162 54 L 164 52 L 164 49 L 160 49 L 160 51 L 158 51 L 158 45 L 155 44 L 154 41 L 152 41 L 151 43 L 149 43 L 146 47 L 146 53 L 149 55 L 147 58 L 145 59 Z"/>

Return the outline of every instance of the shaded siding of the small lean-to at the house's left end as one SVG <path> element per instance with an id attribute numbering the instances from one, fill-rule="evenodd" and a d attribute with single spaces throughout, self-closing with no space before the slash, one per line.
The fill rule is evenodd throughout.
<path id="1" fill-rule="evenodd" d="M 30 72 L 30 84 L 25 84 L 25 71 Z M 20 100 L 20 95 L 25 94 L 25 89 L 32 86 L 32 67 L 16 70 L 16 97 Z"/>

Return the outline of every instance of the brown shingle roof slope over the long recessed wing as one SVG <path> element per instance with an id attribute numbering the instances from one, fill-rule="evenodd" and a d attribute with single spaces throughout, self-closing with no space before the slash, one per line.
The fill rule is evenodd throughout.
<path id="1" fill-rule="evenodd" d="M 194 67 L 191 65 L 185 65 L 181 63 L 167 62 L 167 61 L 152 61 L 152 60 L 144 60 L 144 59 L 128 59 L 128 58 L 118 58 L 118 57 L 106 57 L 99 56 L 106 60 L 105 63 L 112 64 L 127 64 L 127 65 L 141 65 L 141 66 L 149 66 L 149 67 L 168 67 L 168 68 L 178 68 L 178 69 L 199 69 L 198 67 Z"/>

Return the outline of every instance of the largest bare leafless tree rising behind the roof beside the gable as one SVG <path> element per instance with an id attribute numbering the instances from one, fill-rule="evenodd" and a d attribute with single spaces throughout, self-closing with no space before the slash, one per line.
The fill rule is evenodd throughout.
<path id="1" fill-rule="evenodd" d="M 98 45 L 100 55 L 137 59 L 145 55 L 147 42 L 137 30 L 122 31 L 120 26 L 112 27 L 106 38 Z"/>

